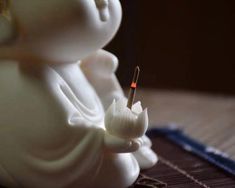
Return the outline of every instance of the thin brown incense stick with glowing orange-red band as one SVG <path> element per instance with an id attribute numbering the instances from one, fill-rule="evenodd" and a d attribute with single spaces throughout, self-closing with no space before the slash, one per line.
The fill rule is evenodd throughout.
<path id="1" fill-rule="evenodd" d="M 130 86 L 128 101 L 127 101 L 127 107 L 130 109 L 132 108 L 132 105 L 135 100 L 135 93 L 136 93 L 137 83 L 139 79 L 139 74 L 140 74 L 140 68 L 137 66 L 135 68 L 134 76 L 133 76 L 132 83 Z"/>

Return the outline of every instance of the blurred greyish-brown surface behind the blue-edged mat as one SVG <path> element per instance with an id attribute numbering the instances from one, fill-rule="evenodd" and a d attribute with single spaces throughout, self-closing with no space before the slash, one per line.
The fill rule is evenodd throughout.
<path id="1" fill-rule="evenodd" d="M 235 97 L 138 89 L 150 127 L 176 124 L 192 138 L 235 160 Z"/>

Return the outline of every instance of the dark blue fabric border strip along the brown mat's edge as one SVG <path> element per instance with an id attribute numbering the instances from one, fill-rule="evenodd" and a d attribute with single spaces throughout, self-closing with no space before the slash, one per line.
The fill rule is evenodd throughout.
<path id="1" fill-rule="evenodd" d="M 227 173 L 235 176 L 235 161 L 231 160 L 226 154 L 216 150 L 185 135 L 181 130 L 175 128 L 154 128 L 147 132 L 150 138 L 164 136 L 176 143 L 183 149 L 196 154 L 208 162 L 223 169 Z"/>

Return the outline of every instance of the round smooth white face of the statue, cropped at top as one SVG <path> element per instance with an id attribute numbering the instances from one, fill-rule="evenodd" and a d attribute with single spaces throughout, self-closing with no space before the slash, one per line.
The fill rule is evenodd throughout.
<path id="1" fill-rule="evenodd" d="M 77 61 L 102 48 L 121 21 L 119 0 L 12 0 L 12 13 L 19 46 L 58 62 Z"/>

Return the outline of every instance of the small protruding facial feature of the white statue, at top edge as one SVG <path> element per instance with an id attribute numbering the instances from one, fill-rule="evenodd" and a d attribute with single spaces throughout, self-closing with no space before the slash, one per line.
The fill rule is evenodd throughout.
<path id="1" fill-rule="evenodd" d="M 108 21 L 109 15 L 109 0 L 95 0 L 96 7 L 99 11 L 100 19 L 105 22 Z"/>

